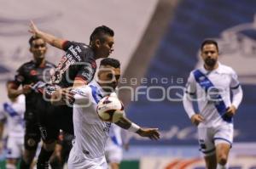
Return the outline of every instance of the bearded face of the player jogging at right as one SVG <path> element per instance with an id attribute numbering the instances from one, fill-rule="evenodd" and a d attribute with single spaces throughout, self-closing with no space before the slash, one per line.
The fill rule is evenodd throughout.
<path id="1" fill-rule="evenodd" d="M 218 49 L 214 44 L 206 44 L 201 50 L 201 57 L 205 64 L 214 67 L 218 60 Z"/>

